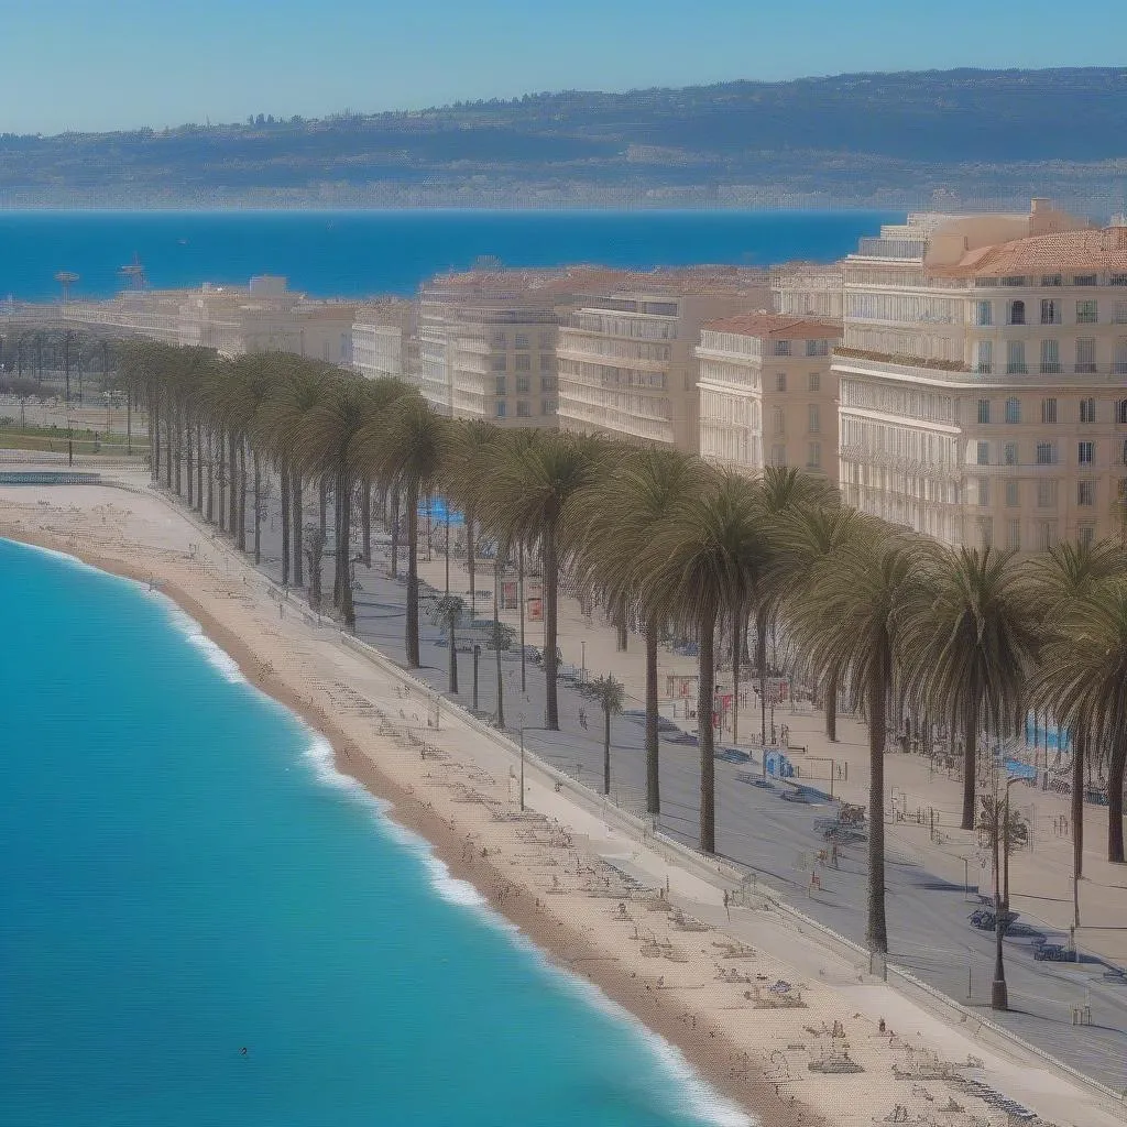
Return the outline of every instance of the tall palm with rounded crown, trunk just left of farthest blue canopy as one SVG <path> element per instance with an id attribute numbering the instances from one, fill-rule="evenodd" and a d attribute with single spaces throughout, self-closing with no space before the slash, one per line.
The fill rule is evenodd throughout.
<path id="1" fill-rule="evenodd" d="M 385 389 L 391 392 L 390 385 Z M 419 497 L 437 480 L 446 459 L 450 425 L 421 396 L 394 389 L 398 399 L 376 414 L 354 440 L 353 461 L 388 485 L 398 485 L 407 502 L 407 665 L 419 657 L 418 520 Z"/>

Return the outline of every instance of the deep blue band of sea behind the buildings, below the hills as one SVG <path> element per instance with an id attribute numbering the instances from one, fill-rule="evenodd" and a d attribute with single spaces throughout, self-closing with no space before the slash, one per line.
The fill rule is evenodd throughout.
<path id="1" fill-rule="evenodd" d="M 870 211 L 0 211 L 0 300 L 109 298 L 139 263 L 152 289 L 289 278 L 319 298 L 410 294 L 434 274 L 504 266 L 833 261 L 903 213 Z"/>

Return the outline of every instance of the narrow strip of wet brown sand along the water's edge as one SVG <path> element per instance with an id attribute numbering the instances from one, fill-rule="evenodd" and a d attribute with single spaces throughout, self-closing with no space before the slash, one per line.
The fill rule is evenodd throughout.
<path id="1" fill-rule="evenodd" d="M 471 885 L 485 905 L 508 921 L 531 941 L 554 969 L 573 975 L 598 988 L 607 999 L 636 1020 L 642 1035 L 656 1035 L 672 1046 L 694 1073 L 717 1093 L 738 1104 L 761 1127 L 817 1127 L 828 1121 L 808 1104 L 779 1097 L 779 1086 L 765 1075 L 745 1070 L 734 1073 L 731 1062 L 746 1059 L 746 1050 L 726 1030 L 693 1017 L 693 1033 L 686 1036 L 684 1017 L 676 1004 L 663 1004 L 657 990 L 639 978 L 615 973 L 604 950 L 580 930 L 548 911 L 547 904 L 527 885 L 514 881 L 512 873 L 488 858 L 464 850 L 464 826 L 442 817 L 410 784 L 403 784 L 380 764 L 322 708 L 303 698 L 258 651 L 254 641 L 240 637 L 221 621 L 194 594 L 167 574 L 160 560 L 144 568 L 101 556 L 57 534 L 44 535 L 27 530 L 5 527 L 0 535 L 29 547 L 44 548 L 72 557 L 100 571 L 149 584 L 156 579 L 159 592 L 192 618 L 216 646 L 238 665 L 247 682 L 300 719 L 313 734 L 322 736 L 332 748 L 334 769 L 358 782 L 370 795 L 390 804 L 384 811 L 396 825 L 426 842 L 434 857 L 451 877 Z M 161 574 L 166 571 L 166 574 Z M 706 1040 L 707 1038 L 707 1040 Z M 685 1077 L 687 1080 L 687 1077 Z M 719 1110 L 719 1109 L 717 1109 Z"/>

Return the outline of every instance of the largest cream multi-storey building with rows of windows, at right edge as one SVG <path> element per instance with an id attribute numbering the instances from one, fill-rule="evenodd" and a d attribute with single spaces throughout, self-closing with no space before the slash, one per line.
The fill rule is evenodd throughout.
<path id="1" fill-rule="evenodd" d="M 912 216 L 844 274 L 846 502 L 950 544 L 1122 534 L 1127 227 Z"/>

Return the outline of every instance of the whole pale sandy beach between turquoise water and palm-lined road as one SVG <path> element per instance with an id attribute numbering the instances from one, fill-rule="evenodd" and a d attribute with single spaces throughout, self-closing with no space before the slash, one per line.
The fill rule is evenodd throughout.
<path id="1" fill-rule="evenodd" d="M 531 763 L 522 814 L 512 745 L 281 600 L 156 491 L 0 488 L 0 535 L 158 585 L 453 877 L 760 1122 L 1006 1122 L 974 1080 L 1061 1127 L 1122 1121 L 1083 1085 L 859 973 L 783 913 L 726 907 L 722 870 L 678 863 Z"/>

